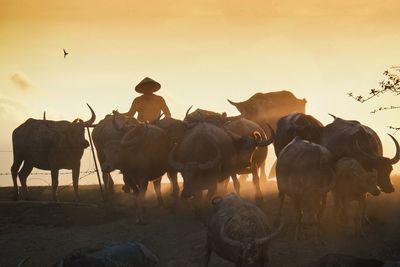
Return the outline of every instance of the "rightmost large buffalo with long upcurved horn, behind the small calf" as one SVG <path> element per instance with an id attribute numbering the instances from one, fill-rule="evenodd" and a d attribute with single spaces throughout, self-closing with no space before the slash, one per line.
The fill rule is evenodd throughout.
<path id="1" fill-rule="evenodd" d="M 378 186 L 385 193 L 394 192 L 390 181 L 392 165 L 400 160 L 397 140 L 389 134 L 396 146 L 393 158 L 383 156 L 382 142 L 370 127 L 354 120 L 343 120 L 335 116 L 334 121 L 324 127 L 320 144 L 331 151 L 334 160 L 342 157 L 357 159 L 364 169 L 378 171 Z"/>

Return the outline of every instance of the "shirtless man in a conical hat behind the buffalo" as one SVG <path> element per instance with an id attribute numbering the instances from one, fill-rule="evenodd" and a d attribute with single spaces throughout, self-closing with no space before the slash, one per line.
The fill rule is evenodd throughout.
<path id="1" fill-rule="evenodd" d="M 138 113 L 137 119 L 141 122 L 153 122 L 161 114 L 161 111 L 166 117 L 171 117 L 171 112 L 162 96 L 154 94 L 161 88 L 161 85 L 146 77 L 135 87 L 135 91 L 142 94 L 136 97 L 128 112 L 123 115 L 133 117 Z"/>

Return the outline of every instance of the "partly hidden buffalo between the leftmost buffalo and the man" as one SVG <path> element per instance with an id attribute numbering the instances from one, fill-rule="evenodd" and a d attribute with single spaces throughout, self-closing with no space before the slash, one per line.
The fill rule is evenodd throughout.
<path id="1" fill-rule="evenodd" d="M 116 127 L 115 124 L 118 126 Z M 93 143 L 96 147 L 97 157 L 99 159 L 107 193 L 114 192 L 114 181 L 111 174 L 104 171 L 104 162 L 106 157 L 104 154 L 104 148 L 110 141 L 120 141 L 127 129 L 135 127 L 138 124 L 139 122 L 135 118 L 128 118 L 116 113 L 114 115 L 107 115 L 93 128 Z"/>

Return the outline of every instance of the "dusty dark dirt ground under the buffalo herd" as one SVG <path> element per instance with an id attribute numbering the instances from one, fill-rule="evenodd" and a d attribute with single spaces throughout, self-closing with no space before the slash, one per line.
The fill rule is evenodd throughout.
<path id="1" fill-rule="evenodd" d="M 268 266 L 302 266 L 327 253 L 345 253 L 380 260 L 400 257 L 400 177 L 393 177 L 397 191 L 368 198 L 368 215 L 372 225 L 367 236 L 355 237 L 352 231 L 337 232 L 333 223 L 332 200 L 322 220 L 325 244 L 316 246 L 310 240 L 294 241 L 294 212 L 286 199 L 286 226 L 271 242 Z M 0 266 L 51 266 L 57 259 L 77 248 L 96 248 L 124 241 L 140 241 L 158 255 L 160 266 L 201 266 L 206 231 L 195 219 L 191 204 L 180 203 L 175 213 L 157 207 L 154 190 L 149 187 L 146 205 L 149 224 L 135 225 L 133 197 L 117 185 L 113 204 L 104 205 L 97 186 L 81 186 L 81 201 L 92 206 L 48 203 L 10 202 L 11 188 L 0 188 Z M 164 196 L 170 203 L 169 185 L 163 184 Z M 242 185 L 243 195 L 253 201 L 252 184 Z M 232 185 L 230 185 L 230 190 Z M 275 218 L 278 208 L 276 183 L 263 184 L 261 208 Z M 51 199 L 49 187 L 31 187 L 33 200 Z M 60 187 L 60 201 L 73 201 L 71 187 Z M 210 266 L 234 266 L 212 255 Z"/>

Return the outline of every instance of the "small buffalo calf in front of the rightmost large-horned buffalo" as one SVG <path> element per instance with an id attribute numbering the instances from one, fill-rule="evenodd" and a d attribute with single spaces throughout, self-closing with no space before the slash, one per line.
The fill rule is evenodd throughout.
<path id="1" fill-rule="evenodd" d="M 356 234 L 364 235 L 363 219 L 366 219 L 366 197 L 367 193 L 374 196 L 379 195 L 377 187 L 377 172 L 373 169 L 367 172 L 361 164 L 353 158 L 341 158 L 335 165 L 336 183 L 332 189 L 335 203 L 336 218 L 341 217 L 347 221 L 347 210 L 349 202 L 358 201 L 357 215 L 354 220 Z"/>

